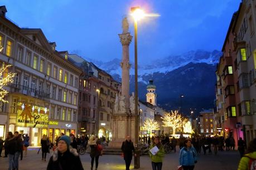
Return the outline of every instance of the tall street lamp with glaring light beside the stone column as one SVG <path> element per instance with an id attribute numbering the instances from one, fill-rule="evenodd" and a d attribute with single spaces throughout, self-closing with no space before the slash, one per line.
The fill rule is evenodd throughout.
<path id="1" fill-rule="evenodd" d="M 137 22 L 139 19 L 145 16 L 142 9 L 139 7 L 132 7 L 132 16 L 134 18 L 134 85 L 135 85 L 135 149 L 136 157 L 134 157 L 134 168 L 138 169 L 140 167 L 139 152 L 138 152 L 138 53 L 137 53 L 137 33 L 138 27 Z"/>

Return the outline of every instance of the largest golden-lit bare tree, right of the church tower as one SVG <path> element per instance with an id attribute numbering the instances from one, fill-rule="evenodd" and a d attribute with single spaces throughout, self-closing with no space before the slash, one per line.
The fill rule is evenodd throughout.
<path id="1" fill-rule="evenodd" d="M 172 128 L 172 135 L 175 134 L 176 129 L 181 128 L 181 114 L 178 113 L 178 111 L 171 111 L 170 113 L 165 114 L 165 117 L 163 119 L 163 126 L 164 127 L 171 127 Z"/>

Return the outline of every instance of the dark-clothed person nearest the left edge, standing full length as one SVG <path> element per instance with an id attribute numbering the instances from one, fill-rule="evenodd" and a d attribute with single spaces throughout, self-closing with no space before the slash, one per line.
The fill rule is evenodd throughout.
<path id="1" fill-rule="evenodd" d="M 6 141 L 6 148 L 8 151 L 9 168 L 8 170 L 15 169 L 15 152 L 17 149 L 17 141 L 12 132 L 7 133 L 8 141 Z"/>

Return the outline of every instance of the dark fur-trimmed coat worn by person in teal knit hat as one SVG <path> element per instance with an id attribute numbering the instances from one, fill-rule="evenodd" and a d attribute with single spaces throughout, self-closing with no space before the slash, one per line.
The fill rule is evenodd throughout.
<path id="1" fill-rule="evenodd" d="M 56 148 L 47 166 L 47 170 L 84 170 L 76 149 L 69 147 L 61 154 Z"/>

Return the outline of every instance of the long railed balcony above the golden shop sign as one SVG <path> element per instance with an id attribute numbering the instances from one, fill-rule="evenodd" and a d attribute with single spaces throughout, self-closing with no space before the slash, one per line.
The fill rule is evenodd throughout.
<path id="1" fill-rule="evenodd" d="M 32 96 L 40 99 L 50 98 L 50 93 L 45 93 L 44 91 L 38 91 L 37 89 L 29 88 L 22 86 L 20 84 L 11 84 L 11 92 L 13 93 L 22 93 L 26 96 Z"/>

